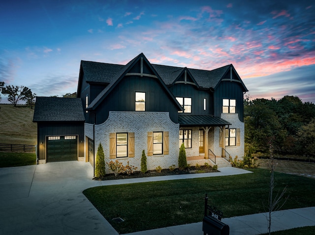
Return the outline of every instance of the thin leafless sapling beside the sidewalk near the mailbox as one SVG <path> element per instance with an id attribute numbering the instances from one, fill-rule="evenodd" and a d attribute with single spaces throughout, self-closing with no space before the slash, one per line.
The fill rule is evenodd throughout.
<path id="1" fill-rule="evenodd" d="M 284 187 L 281 193 L 280 191 L 278 191 L 276 196 L 273 195 L 273 192 L 276 186 L 274 172 L 275 172 L 277 163 L 275 163 L 273 144 L 271 141 L 269 143 L 269 152 L 270 152 L 270 162 L 268 162 L 268 164 L 270 168 L 270 185 L 269 185 L 270 188 L 269 188 L 269 196 L 268 196 L 268 215 L 266 217 L 268 220 L 268 233 L 270 235 L 272 214 L 274 213 L 274 211 L 280 210 L 284 206 L 288 197 L 284 198 L 284 194 L 286 193 L 287 186 Z"/>

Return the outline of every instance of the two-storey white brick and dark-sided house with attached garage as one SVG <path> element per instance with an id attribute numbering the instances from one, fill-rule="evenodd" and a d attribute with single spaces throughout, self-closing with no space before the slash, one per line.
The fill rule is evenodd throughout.
<path id="1" fill-rule="evenodd" d="M 67 160 L 48 147 L 77 136 L 77 159 L 92 165 L 99 143 L 106 162 L 139 169 L 142 150 L 150 170 L 178 166 L 182 143 L 192 165 L 228 163 L 244 156 L 247 91 L 232 64 L 212 71 L 165 66 L 143 53 L 126 65 L 81 61 L 76 99 L 37 98 L 38 159 L 51 161 L 52 151 Z"/>

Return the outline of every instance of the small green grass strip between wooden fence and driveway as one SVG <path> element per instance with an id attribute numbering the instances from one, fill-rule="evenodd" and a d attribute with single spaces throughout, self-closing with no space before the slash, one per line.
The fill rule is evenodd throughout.
<path id="1" fill-rule="evenodd" d="M 35 154 L 0 152 L 0 167 L 27 166 L 34 164 L 36 164 Z"/>

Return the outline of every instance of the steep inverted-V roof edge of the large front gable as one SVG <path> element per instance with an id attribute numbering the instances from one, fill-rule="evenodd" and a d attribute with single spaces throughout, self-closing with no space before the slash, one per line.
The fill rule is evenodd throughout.
<path id="1" fill-rule="evenodd" d="M 143 53 L 140 53 L 138 56 L 133 58 L 131 61 L 129 61 L 124 67 L 121 68 L 121 70 L 115 75 L 115 77 L 112 79 L 112 81 L 103 89 L 97 96 L 96 98 L 89 104 L 87 109 L 95 109 L 95 107 L 100 104 L 105 97 L 110 93 L 110 91 L 113 90 L 113 88 L 119 83 L 119 81 L 126 75 L 126 73 L 135 65 L 137 61 L 140 59 L 143 59 L 144 62 L 147 63 L 147 65 L 151 68 L 155 76 L 158 78 L 160 81 L 160 84 L 166 91 L 166 93 L 171 97 L 171 99 L 177 104 L 178 110 L 182 110 L 182 106 L 178 103 L 178 101 L 175 99 L 173 94 L 169 91 L 169 89 L 166 87 L 165 83 L 163 82 L 162 78 L 158 75 L 157 71 L 155 68 L 151 65 L 151 63 L 148 61 L 148 59 L 145 57 Z"/>

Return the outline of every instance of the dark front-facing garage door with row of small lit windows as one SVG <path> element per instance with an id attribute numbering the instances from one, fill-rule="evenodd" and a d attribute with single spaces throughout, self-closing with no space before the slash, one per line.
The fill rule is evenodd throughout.
<path id="1" fill-rule="evenodd" d="M 76 135 L 47 137 L 47 162 L 77 159 L 78 139 Z"/>

